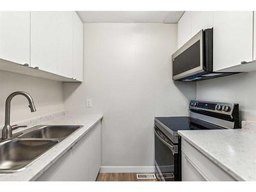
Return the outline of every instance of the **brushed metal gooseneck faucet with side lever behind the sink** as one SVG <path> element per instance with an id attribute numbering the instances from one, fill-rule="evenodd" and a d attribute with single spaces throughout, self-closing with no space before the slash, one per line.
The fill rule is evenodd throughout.
<path id="1" fill-rule="evenodd" d="M 18 127 L 26 127 L 27 126 L 27 125 L 22 125 L 22 126 L 19 126 L 19 125 L 12 125 L 11 126 L 10 125 L 11 100 L 16 95 L 25 96 L 29 101 L 29 108 L 30 108 L 31 112 L 36 111 L 34 101 L 33 101 L 32 97 L 29 94 L 27 94 L 23 91 L 16 91 L 16 92 L 13 92 L 12 94 L 10 94 L 7 97 L 6 102 L 5 102 L 5 126 L 2 130 L 2 139 L 3 140 L 12 137 L 12 131 L 18 129 Z"/>

